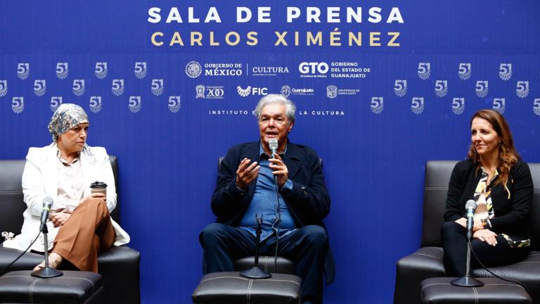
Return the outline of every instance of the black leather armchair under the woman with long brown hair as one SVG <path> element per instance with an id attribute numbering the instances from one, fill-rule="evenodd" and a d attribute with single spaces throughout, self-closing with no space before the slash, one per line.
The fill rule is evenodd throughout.
<path id="1" fill-rule="evenodd" d="M 420 282 L 431 277 L 445 277 L 442 263 L 441 227 L 444 223 L 446 192 L 456 160 L 428 161 L 425 167 L 423 230 L 420 249 L 397 262 L 394 304 L 422 303 Z M 540 164 L 529 163 L 534 183 L 534 197 L 529 219 L 532 227 L 532 251 L 522 262 L 489 270 L 505 279 L 520 281 L 535 303 L 540 303 Z M 492 277 L 479 268 L 473 277 Z"/>

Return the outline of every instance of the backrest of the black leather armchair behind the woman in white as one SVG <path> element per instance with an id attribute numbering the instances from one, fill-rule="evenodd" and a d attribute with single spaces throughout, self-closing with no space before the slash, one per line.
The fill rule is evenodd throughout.
<path id="1" fill-rule="evenodd" d="M 115 175 L 116 194 L 118 195 L 118 160 L 110 156 L 110 165 Z M 26 204 L 23 199 L 23 170 L 25 160 L 0 160 L 0 232 L 20 234 L 23 227 L 23 212 Z M 111 217 L 120 222 L 120 199 Z M 3 241 L 0 237 L 0 241 Z"/>

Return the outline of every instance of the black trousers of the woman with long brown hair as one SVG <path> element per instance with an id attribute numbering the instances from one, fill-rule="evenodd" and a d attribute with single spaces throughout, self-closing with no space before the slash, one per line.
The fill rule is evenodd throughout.
<path id="1" fill-rule="evenodd" d="M 463 277 L 467 263 L 467 229 L 456 222 L 445 222 L 441 229 L 444 249 L 444 269 L 449 277 Z M 491 246 L 479 239 L 471 242 L 473 250 L 486 267 L 509 265 L 527 257 L 529 248 L 513 248 L 501 234 L 497 235 L 497 245 Z M 473 253 L 470 253 L 470 269 L 481 267 Z"/>

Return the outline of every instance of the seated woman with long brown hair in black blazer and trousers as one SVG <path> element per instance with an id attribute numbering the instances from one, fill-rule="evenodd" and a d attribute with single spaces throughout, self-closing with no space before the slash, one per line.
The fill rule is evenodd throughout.
<path id="1" fill-rule="evenodd" d="M 465 275 L 467 252 L 465 203 L 477 203 L 473 250 L 486 266 L 507 265 L 529 253 L 529 207 L 532 177 L 515 151 L 503 115 L 480 110 L 470 122 L 467 159 L 456 164 L 450 178 L 442 227 L 444 267 L 451 277 Z M 480 264 L 471 257 L 471 267 Z"/>

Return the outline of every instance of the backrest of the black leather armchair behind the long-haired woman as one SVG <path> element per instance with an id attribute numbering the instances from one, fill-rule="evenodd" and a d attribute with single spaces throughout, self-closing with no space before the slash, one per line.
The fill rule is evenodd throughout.
<path id="1" fill-rule="evenodd" d="M 421 246 L 441 246 L 441 227 L 444 223 L 446 192 L 450 175 L 457 160 L 430 160 L 425 165 L 424 214 Z M 529 222 L 532 229 L 532 248 L 540 249 L 540 163 L 529 163 L 534 196 Z"/>

